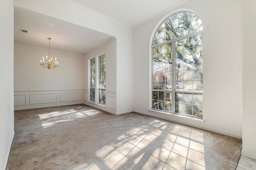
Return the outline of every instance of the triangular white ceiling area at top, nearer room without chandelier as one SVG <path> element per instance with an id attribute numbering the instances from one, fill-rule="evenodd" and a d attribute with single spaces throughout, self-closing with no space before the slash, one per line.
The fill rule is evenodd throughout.
<path id="1" fill-rule="evenodd" d="M 105 16 L 136 27 L 182 0 L 71 0 Z"/>

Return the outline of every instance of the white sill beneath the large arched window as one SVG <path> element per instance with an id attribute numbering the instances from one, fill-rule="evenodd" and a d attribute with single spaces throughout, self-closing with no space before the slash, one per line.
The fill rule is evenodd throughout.
<path id="1" fill-rule="evenodd" d="M 175 113 L 169 113 L 169 112 L 165 112 L 165 111 L 159 111 L 159 110 L 154 110 L 154 109 L 148 109 L 148 111 L 150 111 L 151 113 L 163 113 L 161 115 L 159 115 L 158 117 L 160 118 L 164 118 L 166 119 L 166 115 L 170 115 L 171 117 L 168 117 L 167 119 L 172 120 L 172 121 L 179 121 L 180 123 L 184 123 L 183 121 L 187 122 L 187 121 L 196 121 L 196 123 L 202 123 L 204 124 L 204 120 L 203 119 L 199 119 L 196 117 L 188 117 L 185 115 L 178 115 Z"/>

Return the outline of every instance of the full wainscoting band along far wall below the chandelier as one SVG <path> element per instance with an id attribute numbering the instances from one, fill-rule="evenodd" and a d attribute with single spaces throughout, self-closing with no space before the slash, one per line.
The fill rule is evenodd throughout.
<path id="1" fill-rule="evenodd" d="M 83 104 L 83 95 L 84 90 L 14 91 L 14 110 Z"/>

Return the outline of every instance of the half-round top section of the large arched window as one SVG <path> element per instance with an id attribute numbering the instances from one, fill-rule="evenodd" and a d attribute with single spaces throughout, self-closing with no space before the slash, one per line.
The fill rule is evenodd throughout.
<path id="1" fill-rule="evenodd" d="M 202 21 L 192 12 L 180 12 L 167 18 L 155 33 L 153 45 L 203 30 Z"/>

